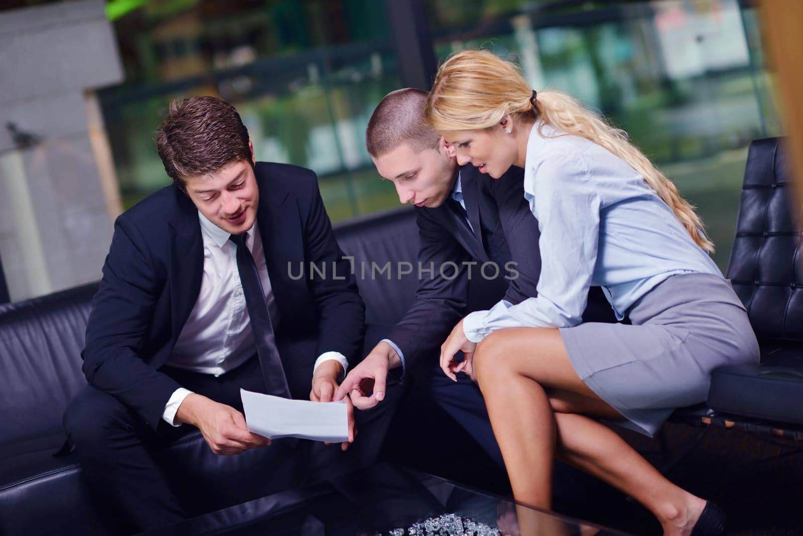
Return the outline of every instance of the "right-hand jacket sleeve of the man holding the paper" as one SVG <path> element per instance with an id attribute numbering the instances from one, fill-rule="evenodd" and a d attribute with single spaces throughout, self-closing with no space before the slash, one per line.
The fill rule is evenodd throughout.
<path id="1" fill-rule="evenodd" d="M 332 223 L 320 198 L 315 174 L 309 189 L 308 212 L 304 225 L 304 258 L 324 266 L 330 277 L 311 278 L 310 290 L 318 309 L 316 355 L 339 351 L 354 363 L 362 349 L 365 335 L 365 303 L 357 293 L 357 281 L 351 264 L 337 245 Z"/>

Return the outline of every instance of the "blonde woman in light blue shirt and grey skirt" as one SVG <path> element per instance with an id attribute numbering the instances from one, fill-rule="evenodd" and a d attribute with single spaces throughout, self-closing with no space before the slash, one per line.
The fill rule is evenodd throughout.
<path id="1" fill-rule="evenodd" d="M 516 500 L 552 506 L 558 457 L 640 501 L 664 534 L 720 534 L 715 505 L 600 422 L 652 436 L 673 408 L 706 399 L 713 368 L 758 359 L 694 209 L 625 132 L 568 95 L 532 91 L 488 52 L 443 63 L 426 118 L 459 164 L 491 177 L 524 168 L 539 222 L 538 295 L 471 313 L 441 354 L 447 376 L 463 371 L 479 384 Z M 581 323 L 591 285 L 632 325 Z"/>

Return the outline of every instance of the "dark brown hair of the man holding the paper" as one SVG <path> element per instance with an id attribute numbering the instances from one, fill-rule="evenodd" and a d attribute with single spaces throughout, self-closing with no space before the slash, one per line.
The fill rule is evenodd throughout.
<path id="1" fill-rule="evenodd" d="M 218 97 L 173 100 L 157 129 L 156 147 L 165 172 L 181 189 L 186 179 L 236 160 L 252 164 L 248 129 L 234 106 Z"/>

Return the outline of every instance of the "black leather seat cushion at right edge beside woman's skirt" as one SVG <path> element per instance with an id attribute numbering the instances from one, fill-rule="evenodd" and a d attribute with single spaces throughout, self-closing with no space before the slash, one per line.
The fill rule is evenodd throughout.
<path id="1" fill-rule="evenodd" d="M 803 348 L 765 350 L 760 365 L 719 367 L 708 405 L 718 412 L 803 424 Z"/>

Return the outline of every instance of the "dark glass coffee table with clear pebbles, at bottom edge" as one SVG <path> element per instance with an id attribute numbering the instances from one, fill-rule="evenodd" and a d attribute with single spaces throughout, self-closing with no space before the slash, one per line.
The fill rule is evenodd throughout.
<path id="1" fill-rule="evenodd" d="M 412 469 L 380 464 L 145 534 L 569 536 L 625 533 L 516 505 L 491 493 Z"/>

